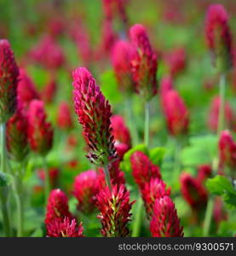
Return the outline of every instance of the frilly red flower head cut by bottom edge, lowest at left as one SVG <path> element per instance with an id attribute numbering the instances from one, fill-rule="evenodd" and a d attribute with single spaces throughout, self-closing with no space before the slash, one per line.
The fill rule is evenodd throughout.
<path id="1" fill-rule="evenodd" d="M 79 225 L 73 218 L 55 218 L 47 225 L 47 235 L 49 237 L 83 237 L 82 223 Z"/>

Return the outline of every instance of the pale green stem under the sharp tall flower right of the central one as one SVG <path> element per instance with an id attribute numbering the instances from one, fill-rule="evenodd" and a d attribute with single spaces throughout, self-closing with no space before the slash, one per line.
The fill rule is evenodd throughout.
<path id="1" fill-rule="evenodd" d="M 127 107 L 125 108 L 126 110 L 126 115 L 127 115 L 127 120 L 129 122 L 130 126 L 130 131 L 131 131 L 131 137 L 132 137 L 132 145 L 137 145 L 139 143 L 139 137 L 136 129 L 136 124 L 135 124 L 135 119 L 133 117 L 133 108 L 132 108 L 132 99 L 131 97 L 127 101 Z"/>

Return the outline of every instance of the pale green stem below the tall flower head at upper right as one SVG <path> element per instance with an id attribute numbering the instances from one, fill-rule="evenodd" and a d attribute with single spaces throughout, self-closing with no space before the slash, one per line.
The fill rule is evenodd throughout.
<path id="1" fill-rule="evenodd" d="M 217 129 L 218 137 L 220 136 L 221 131 L 224 129 L 225 84 L 226 84 L 225 74 L 222 73 L 220 78 L 220 85 L 219 85 L 220 109 L 219 109 L 218 129 Z"/>

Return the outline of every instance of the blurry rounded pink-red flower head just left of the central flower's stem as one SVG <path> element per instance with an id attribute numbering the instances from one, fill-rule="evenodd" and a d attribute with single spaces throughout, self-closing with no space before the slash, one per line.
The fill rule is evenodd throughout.
<path id="1" fill-rule="evenodd" d="M 98 193 L 97 176 L 97 172 L 89 170 L 75 177 L 73 195 L 78 200 L 78 210 L 81 212 L 89 213 L 95 210 L 95 195 Z"/>

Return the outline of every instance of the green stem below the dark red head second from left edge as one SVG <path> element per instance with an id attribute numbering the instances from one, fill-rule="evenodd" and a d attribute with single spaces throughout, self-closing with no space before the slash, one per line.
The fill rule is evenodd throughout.
<path id="1" fill-rule="evenodd" d="M 24 234 L 24 205 L 21 177 L 14 177 L 14 197 L 17 208 L 17 236 L 22 237 Z"/>

